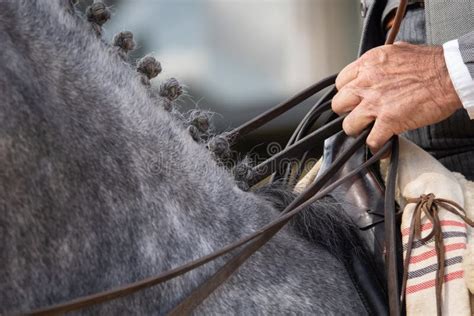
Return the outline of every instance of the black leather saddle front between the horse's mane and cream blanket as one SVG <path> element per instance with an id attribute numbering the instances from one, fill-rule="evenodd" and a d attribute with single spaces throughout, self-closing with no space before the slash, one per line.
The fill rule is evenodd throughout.
<path id="1" fill-rule="evenodd" d="M 344 133 L 338 133 L 324 142 L 323 162 L 318 176 L 323 174 L 334 162 L 335 157 L 354 143 L 354 139 Z M 333 181 L 347 175 L 351 170 L 365 162 L 370 153 L 365 146 L 355 154 L 334 175 Z M 359 236 L 371 255 L 369 264 L 362 261 L 356 253 L 350 254 L 353 278 L 358 291 L 367 307 L 375 315 L 388 315 L 387 282 L 385 279 L 385 184 L 376 166 L 361 171 L 352 181 L 346 181 L 328 194 L 341 202 L 345 213 L 359 228 Z M 397 224 L 398 226 L 398 224 Z M 398 228 L 397 228 L 397 231 Z M 397 239 L 397 262 L 402 260 L 401 238 Z M 398 265 L 401 267 L 401 265 Z M 376 272 L 374 272 L 376 271 Z M 399 275 L 402 271 L 399 271 Z"/>

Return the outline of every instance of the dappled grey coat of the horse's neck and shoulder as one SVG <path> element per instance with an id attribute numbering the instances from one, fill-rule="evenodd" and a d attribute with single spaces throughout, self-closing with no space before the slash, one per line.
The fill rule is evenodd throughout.
<path id="1" fill-rule="evenodd" d="M 278 215 L 237 188 L 69 1 L 0 0 L 0 43 L 2 314 L 156 275 Z M 197 312 L 366 313 L 326 248 L 285 228 Z M 222 263 L 82 312 L 163 314 Z"/>

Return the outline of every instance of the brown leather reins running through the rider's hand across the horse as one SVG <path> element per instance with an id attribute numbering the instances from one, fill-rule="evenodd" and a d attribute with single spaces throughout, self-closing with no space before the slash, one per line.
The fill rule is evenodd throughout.
<path id="1" fill-rule="evenodd" d="M 401 0 L 400 7 L 397 10 L 395 17 L 395 22 L 390 32 L 390 35 L 387 39 L 387 44 L 392 44 L 396 34 L 398 33 L 401 20 L 404 16 L 407 6 L 407 0 Z M 291 108 L 300 104 L 302 101 L 308 99 L 314 94 L 322 91 L 325 88 L 330 87 L 334 84 L 336 75 L 323 79 L 322 81 L 316 83 L 315 85 L 307 88 L 301 93 L 297 94 L 293 98 L 289 99 L 286 102 L 283 102 L 280 105 L 272 108 L 271 110 L 259 115 L 258 117 L 250 120 L 249 122 L 243 124 L 242 126 L 234 129 L 228 134 L 228 139 L 231 143 L 235 143 L 242 136 L 254 131 L 255 129 L 261 127 L 262 125 L 272 121 L 281 114 L 287 112 Z M 335 91 L 334 88 L 332 90 Z M 333 95 L 334 93 L 332 93 Z M 330 105 L 330 98 L 332 97 L 331 93 L 327 94 L 325 102 L 321 100 L 315 107 L 316 114 L 320 114 L 324 109 L 328 108 Z M 323 97 L 324 99 L 325 97 Z M 319 111 L 319 112 L 318 112 Z M 314 114 L 314 113 L 313 113 Z M 309 119 L 309 117 L 305 117 Z M 311 144 L 314 144 L 316 141 L 320 141 L 328 138 L 334 133 L 341 130 L 343 117 L 338 118 L 331 123 L 323 126 L 322 128 L 314 131 L 313 133 L 307 135 L 306 137 L 297 140 L 293 145 L 289 146 L 285 150 L 281 151 L 277 155 L 271 157 L 267 161 L 255 167 L 259 173 L 259 179 L 261 180 L 269 176 L 269 172 L 264 172 L 270 168 L 266 168 L 271 163 L 281 161 L 287 157 L 295 156 L 298 153 L 307 150 Z M 367 167 L 377 163 L 381 157 L 388 151 L 391 151 L 390 159 L 390 168 L 388 174 L 388 181 L 386 186 L 385 194 L 385 229 L 386 229 L 386 249 L 387 249 L 387 278 L 388 278 L 388 289 L 389 289 L 389 304 L 390 304 L 390 314 L 391 315 L 400 315 L 400 302 L 399 302 L 399 291 L 398 291 L 398 282 L 397 282 L 397 265 L 396 265 L 396 256 L 395 256 L 395 244 L 396 244 L 396 229 L 395 229 L 395 180 L 398 168 L 398 139 L 397 136 L 394 136 L 390 142 L 385 144 L 383 148 L 368 159 L 365 163 L 360 165 L 358 168 L 354 169 L 348 173 L 345 177 L 331 183 L 329 180 L 338 172 L 339 169 L 345 164 L 345 162 L 354 154 L 354 152 L 364 146 L 365 140 L 369 134 L 370 128 L 365 130 L 361 135 L 356 138 L 356 141 L 353 145 L 348 147 L 346 150 L 340 153 L 336 158 L 332 166 L 327 169 L 327 171 L 322 174 L 316 181 L 314 181 L 303 193 L 301 193 L 295 200 L 288 205 L 281 215 L 265 225 L 261 229 L 255 231 L 253 234 L 246 236 L 230 245 L 227 245 L 211 254 L 188 262 L 184 265 L 176 267 L 174 269 L 165 271 L 157 276 L 149 277 L 144 280 L 140 280 L 134 283 L 126 284 L 108 291 L 103 291 L 100 293 L 79 297 L 67 301 L 65 303 L 48 306 L 45 308 L 40 308 L 33 310 L 31 312 L 26 312 L 23 314 L 26 315 L 55 315 L 62 314 L 66 312 L 71 312 L 93 306 L 96 304 L 108 302 L 123 296 L 130 295 L 142 289 L 146 289 L 166 281 L 169 281 L 173 278 L 176 278 L 180 275 L 183 275 L 193 269 L 196 269 L 210 261 L 213 261 L 223 255 L 230 254 L 237 248 L 242 246 L 237 254 L 235 254 L 227 263 L 224 264 L 217 272 L 215 272 L 208 280 L 206 280 L 202 285 L 195 289 L 188 297 L 186 297 L 178 306 L 176 306 L 170 315 L 183 315 L 189 314 L 192 310 L 198 306 L 204 299 L 206 299 L 220 284 L 225 282 L 232 274 L 235 272 L 252 254 L 258 251 L 263 245 L 265 245 L 278 231 L 280 231 L 294 216 L 299 214 L 305 207 L 314 203 L 321 197 L 328 194 L 331 190 L 335 189 L 337 186 L 341 185 L 346 181 L 350 181 L 353 177 L 357 176 L 358 173 L 365 170 Z M 299 137 L 297 137 L 299 138 Z"/>

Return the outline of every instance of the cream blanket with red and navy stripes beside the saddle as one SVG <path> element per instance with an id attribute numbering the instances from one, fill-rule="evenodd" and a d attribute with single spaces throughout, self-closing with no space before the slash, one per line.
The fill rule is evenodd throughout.
<path id="1" fill-rule="evenodd" d="M 408 265 L 405 285 L 407 315 L 472 315 L 474 306 L 474 232 L 461 216 L 440 203 L 436 216 L 420 212 L 414 223 L 417 204 L 410 199 L 432 194 L 463 208 L 474 219 L 474 182 L 447 170 L 436 159 L 413 143 L 400 138 L 398 200 L 403 209 L 401 234 L 404 259 Z M 416 215 L 416 214 L 415 214 Z M 463 215 L 461 213 L 461 215 Z M 435 224 L 433 224 L 435 222 Z M 439 223 L 436 225 L 436 223 Z M 417 234 L 409 240 L 417 226 Z M 434 229 L 440 228 L 438 245 Z M 440 258 L 440 253 L 442 256 Z M 439 261 L 444 266 L 439 266 Z M 442 268 L 442 269 L 440 269 Z M 438 273 L 443 275 L 437 296 Z M 437 310 L 437 301 L 440 310 Z"/>

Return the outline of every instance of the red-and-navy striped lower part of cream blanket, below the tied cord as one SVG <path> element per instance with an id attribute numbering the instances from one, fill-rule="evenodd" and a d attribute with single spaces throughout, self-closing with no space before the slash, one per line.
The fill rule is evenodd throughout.
<path id="1" fill-rule="evenodd" d="M 402 218 L 404 256 L 408 243 L 411 215 L 415 205 L 405 207 Z M 439 213 L 445 247 L 445 276 L 443 289 L 443 315 L 469 315 L 468 292 L 464 282 L 463 255 L 466 249 L 466 224 L 456 215 L 444 210 Z M 422 237 L 426 237 L 432 225 L 425 218 L 422 221 Z M 408 268 L 406 304 L 408 315 L 436 315 L 435 279 L 438 268 L 434 240 L 423 244 L 415 240 Z"/>

